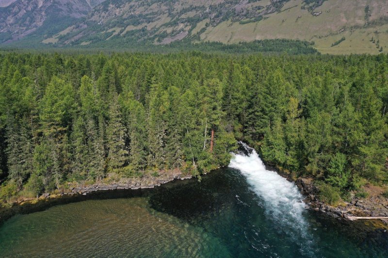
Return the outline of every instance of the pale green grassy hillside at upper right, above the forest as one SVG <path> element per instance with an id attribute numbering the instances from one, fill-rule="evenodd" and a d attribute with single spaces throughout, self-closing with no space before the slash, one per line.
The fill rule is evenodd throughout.
<path id="1" fill-rule="evenodd" d="M 314 41 L 322 53 L 378 54 L 388 43 L 388 4 L 373 0 L 327 0 L 312 12 L 302 9 L 302 1 L 291 0 L 279 12 L 257 22 L 224 21 L 208 27 L 202 40 L 235 43 L 256 39 L 288 38 Z M 365 13 L 366 7 L 368 14 Z M 340 38 L 345 40 L 331 46 Z M 370 40 L 379 40 L 380 47 Z"/>

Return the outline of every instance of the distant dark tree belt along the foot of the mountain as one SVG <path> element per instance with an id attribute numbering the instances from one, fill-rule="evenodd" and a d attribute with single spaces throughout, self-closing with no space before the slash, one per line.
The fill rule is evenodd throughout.
<path id="1" fill-rule="evenodd" d="M 19 46 L 19 44 L 16 44 Z M 35 45 L 33 45 L 35 46 Z M 130 46 L 130 48 L 128 48 Z M 221 42 L 195 42 L 193 43 L 189 39 L 183 39 L 180 41 L 172 42 L 168 45 L 155 45 L 154 41 L 151 42 L 138 42 L 136 39 L 125 40 L 124 42 L 106 42 L 102 40 L 101 43 L 96 46 L 79 46 L 79 47 L 61 47 L 61 46 L 35 46 L 31 49 L 31 42 L 22 43 L 19 47 L 8 46 L 2 47 L 4 52 L 16 51 L 16 52 L 48 52 L 52 53 L 54 50 L 57 53 L 63 54 L 98 54 L 102 51 L 104 53 L 112 52 L 146 52 L 157 54 L 170 54 L 178 53 L 181 51 L 201 51 L 205 53 L 220 53 L 220 54 L 279 54 L 287 53 L 290 55 L 301 54 L 319 54 L 318 51 L 313 48 L 314 43 L 300 40 L 290 39 L 265 39 L 255 40 L 253 42 L 240 42 L 238 44 L 224 44 Z M 1 49 L 0 49 L 1 53 Z"/>

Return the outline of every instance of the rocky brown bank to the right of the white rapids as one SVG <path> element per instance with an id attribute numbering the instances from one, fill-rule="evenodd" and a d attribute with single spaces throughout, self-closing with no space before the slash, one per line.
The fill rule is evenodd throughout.
<path id="1" fill-rule="evenodd" d="M 331 206 L 319 199 L 319 189 L 311 178 L 296 177 L 295 174 L 281 167 L 271 165 L 266 167 L 275 170 L 282 177 L 294 182 L 305 196 L 305 203 L 316 212 L 323 212 L 342 220 L 349 220 L 352 216 L 388 217 L 388 198 L 382 196 L 382 189 L 380 187 L 367 184 L 363 187 L 363 190 L 368 193 L 368 197 L 357 198 L 353 195 L 350 202 L 342 200 L 339 205 Z M 378 228 L 388 228 L 388 220 L 370 220 L 368 224 Z"/>

